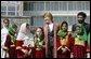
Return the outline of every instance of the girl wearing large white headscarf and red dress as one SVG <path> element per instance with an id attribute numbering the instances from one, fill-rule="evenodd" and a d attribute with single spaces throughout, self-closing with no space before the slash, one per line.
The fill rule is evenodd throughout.
<path id="1" fill-rule="evenodd" d="M 32 42 L 30 38 L 32 38 L 32 34 L 29 30 L 28 24 L 22 24 L 16 39 L 17 58 L 31 58 Z"/>

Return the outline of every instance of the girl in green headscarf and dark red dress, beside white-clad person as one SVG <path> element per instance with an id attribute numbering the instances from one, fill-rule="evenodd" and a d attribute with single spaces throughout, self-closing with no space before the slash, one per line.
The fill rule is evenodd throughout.
<path id="1" fill-rule="evenodd" d="M 16 40 L 15 31 L 16 29 L 17 29 L 16 25 L 11 25 L 8 28 L 9 34 L 6 35 L 6 41 L 5 41 L 4 46 L 8 48 L 6 50 L 9 54 L 9 58 L 16 58 L 16 51 L 15 51 L 15 40 Z"/>

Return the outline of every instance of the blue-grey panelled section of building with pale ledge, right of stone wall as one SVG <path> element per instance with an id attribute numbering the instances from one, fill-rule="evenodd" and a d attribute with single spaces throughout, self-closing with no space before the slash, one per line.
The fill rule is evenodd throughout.
<path id="1" fill-rule="evenodd" d="M 34 23 L 43 23 L 42 15 L 46 11 L 50 11 L 53 19 L 61 24 L 66 20 L 69 26 L 77 23 L 77 14 L 84 12 L 87 14 L 86 21 L 90 24 L 90 2 L 89 1 L 24 1 L 24 16 L 32 16 Z M 36 23 L 34 26 L 43 24 Z"/>

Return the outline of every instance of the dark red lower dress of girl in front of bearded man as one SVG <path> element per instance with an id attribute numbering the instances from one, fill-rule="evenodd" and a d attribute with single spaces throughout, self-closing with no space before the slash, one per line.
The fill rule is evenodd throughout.
<path id="1" fill-rule="evenodd" d="M 76 44 L 76 39 L 73 41 L 73 53 L 74 58 L 86 58 L 87 53 L 87 44 L 86 42 L 83 44 Z"/>

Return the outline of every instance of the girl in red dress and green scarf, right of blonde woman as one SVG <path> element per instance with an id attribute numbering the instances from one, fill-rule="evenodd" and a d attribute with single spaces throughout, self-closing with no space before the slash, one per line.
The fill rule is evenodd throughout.
<path id="1" fill-rule="evenodd" d="M 57 58 L 70 58 L 72 48 L 72 35 L 68 34 L 68 24 L 63 21 L 61 30 L 57 33 L 56 46 L 57 46 Z"/>

